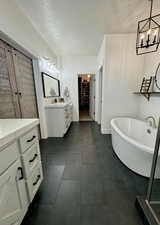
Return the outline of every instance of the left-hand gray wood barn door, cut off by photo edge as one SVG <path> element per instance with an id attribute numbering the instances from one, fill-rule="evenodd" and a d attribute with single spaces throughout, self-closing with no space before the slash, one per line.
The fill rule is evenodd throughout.
<path id="1" fill-rule="evenodd" d="M 21 116 L 16 93 L 11 47 L 0 40 L 0 119 Z"/>

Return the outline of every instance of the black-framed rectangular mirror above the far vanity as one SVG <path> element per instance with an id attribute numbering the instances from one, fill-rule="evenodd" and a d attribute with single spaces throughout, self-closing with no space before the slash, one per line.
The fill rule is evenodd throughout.
<path id="1" fill-rule="evenodd" d="M 45 98 L 60 96 L 60 81 L 46 73 L 42 73 L 43 93 Z"/>

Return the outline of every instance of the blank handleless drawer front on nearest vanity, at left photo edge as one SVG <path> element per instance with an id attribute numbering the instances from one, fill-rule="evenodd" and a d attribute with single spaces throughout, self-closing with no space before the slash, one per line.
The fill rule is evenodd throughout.
<path id="1" fill-rule="evenodd" d="M 0 150 L 0 174 L 19 158 L 18 142 L 12 142 Z"/>

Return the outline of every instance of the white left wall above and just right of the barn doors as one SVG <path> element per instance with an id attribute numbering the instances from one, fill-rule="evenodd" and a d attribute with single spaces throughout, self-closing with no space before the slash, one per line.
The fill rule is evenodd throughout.
<path id="1" fill-rule="evenodd" d="M 0 0 L 0 31 L 16 42 L 18 46 L 26 49 L 34 57 L 47 57 L 56 61 L 55 53 L 34 29 L 29 20 L 17 7 L 14 1 Z M 4 38 L 3 33 L 0 34 Z M 8 39 L 8 38 L 7 38 Z M 47 137 L 45 113 L 43 105 L 43 92 L 41 74 L 38 60 L 34 59 L 34 75 L 36 81 L 36 93 L 41 124 L 41 135 Z"/>

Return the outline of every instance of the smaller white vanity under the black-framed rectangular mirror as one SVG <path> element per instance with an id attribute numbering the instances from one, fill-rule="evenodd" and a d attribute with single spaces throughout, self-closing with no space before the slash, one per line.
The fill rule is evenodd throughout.
<path id="1" fill-rule="evenodd" d="M 45 105 L 48 137 L 63 137 L 73 117 L 72 103 Z"/>

